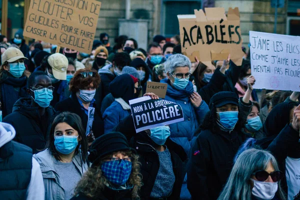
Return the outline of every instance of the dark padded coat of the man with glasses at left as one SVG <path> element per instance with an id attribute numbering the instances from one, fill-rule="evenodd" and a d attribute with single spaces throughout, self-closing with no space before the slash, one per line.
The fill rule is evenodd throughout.
<path id="1" fill-rule="evenodd" d="M 13 140 L 29 146 L 33 153 L 38 153 L 45 148 L 55 110 L 48 106 L 45 114 L 40 116 L 38 107 L 32 107 L 30 103 L 29 98 L 17 100 L 12 113 L 3 118 L 3 122 L 14 127 L 16 135 Z"/>

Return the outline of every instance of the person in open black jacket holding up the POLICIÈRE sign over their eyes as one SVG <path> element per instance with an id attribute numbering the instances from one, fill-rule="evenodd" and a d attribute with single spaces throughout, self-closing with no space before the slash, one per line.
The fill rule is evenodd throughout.
<path id="1" fill-rule="evenodd" d="M 128 115 L 114 129 L 126 136 L 139 155 L 143 182 L 141 199 L 179 199 L 187 156 L 184 149 L 168 137 L 168 126 L 136 133 L 133 118 Z"/>

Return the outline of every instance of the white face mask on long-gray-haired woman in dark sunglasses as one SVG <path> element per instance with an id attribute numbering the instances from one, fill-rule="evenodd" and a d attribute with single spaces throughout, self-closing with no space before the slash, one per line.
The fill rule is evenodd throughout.
<path id="1" fill-rule="evenodd" d="M 259 200 L 270 200 L 275 196 L 278 189 L 277 182 L 261 182 L 250 178 L 253 181 L 252 195 Z"/>

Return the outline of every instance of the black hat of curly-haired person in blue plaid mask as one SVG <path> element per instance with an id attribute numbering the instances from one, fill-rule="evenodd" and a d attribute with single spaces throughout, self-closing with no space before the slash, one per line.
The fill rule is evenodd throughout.
<path id="1" fill-rule="evenodd" d="M 133 148 L 129 147 L 127 139 L 122 133 L 109 132 L 99 136 L 92 142 L 88 160 L 93 166 L 97 164 L 103 156 L 121 150 L 132 150 L 135 152 Z"/>

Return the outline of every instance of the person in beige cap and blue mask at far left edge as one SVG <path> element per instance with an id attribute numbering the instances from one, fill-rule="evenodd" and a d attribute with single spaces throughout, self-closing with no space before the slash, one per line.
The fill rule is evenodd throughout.
<path id="1" fill-rule="evenodd" d="M 12 112 L 13 104 L 21 97 L 27 97 L 26 84 L 29 71 L 26 71 L 22 51 L 10 47 L 1 55 L 0 101 L 2 117 Z"/>

